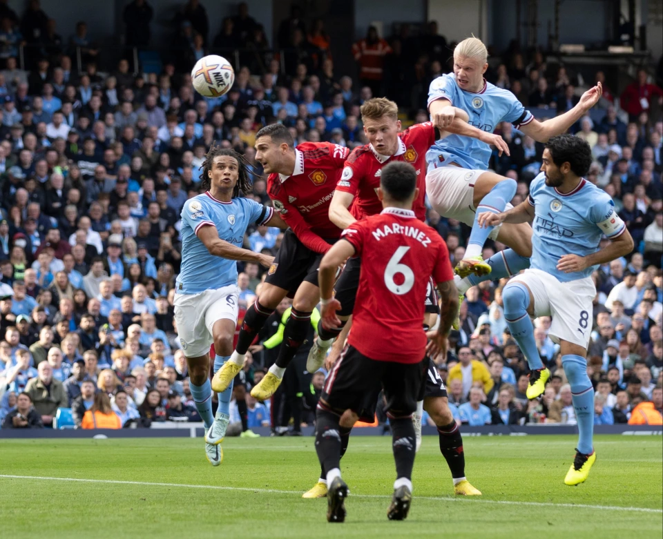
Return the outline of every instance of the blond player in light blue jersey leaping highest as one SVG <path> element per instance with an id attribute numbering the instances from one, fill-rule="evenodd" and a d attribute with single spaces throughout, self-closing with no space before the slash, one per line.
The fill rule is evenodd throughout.
<path id="1" fill-rule="evenodd" d="M 480 39 L 470 37 L 454 49 L 454 74 L 437 77 L 428 91 L 428 110 L 434 125 L 444 128 L 457 110 L 470 116 L 470 124 L 492 131 L 502 121 L 512 123 L 525 135 L 545 142 L 564 133 L 592 108 L 602 95 L 602 86 L 584 92 L 578 104 L 555 118 L 537 121 L 508 90 L 483 78 L 488 51 Z M 532 229 L 527 224 L 478 226 L 483 213 L 510 208 L 516 193 L 515 180 L 486 171 L 490 148 L 483 141 L 450 135 L 437 141 L 426 154 L 426 192 L 434 210 L 443 217 L 472 226 L 465 258 L 459 262 L 456 280 L 461 295 L 482 280 L 499 280 L 529 267 Z M 488 237 L 511 247 L 483 261 L 481 252 Z M 472 275 L 475 274 L 475 275 Z M 488 276 L 490 274 L 490 276 Z M 465 278 L 463 278 L 465 277 Z M 464 298 L 461 297 L 461 302 Z M 550 371 L 532 371 L 527 389 L 530 399 L 544 392 Z"/>

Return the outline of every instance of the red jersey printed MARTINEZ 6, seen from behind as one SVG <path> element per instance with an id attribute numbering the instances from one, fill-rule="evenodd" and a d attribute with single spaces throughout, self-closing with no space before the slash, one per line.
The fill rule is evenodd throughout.
<path id="1" fill-rule="evenodd" d="M 372 360 L 421 361 L 428 276 L 436 283 L 454 278 L 444 240 L 414 212 L 400 208 L 354 222 L 343 239 L 361 257 L 347 342 Z"/>

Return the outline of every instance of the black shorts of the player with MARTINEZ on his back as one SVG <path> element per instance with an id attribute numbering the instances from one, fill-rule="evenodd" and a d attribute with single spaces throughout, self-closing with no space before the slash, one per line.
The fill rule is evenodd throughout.
<path id="1" fill-rule="evenodd" d="M 387 411 L 408 415 L 416 411 L 416 398 L 423 382 L 422 362 L 376 361 L 346 344 L 329 373 L 318 406 L 341 414 L 352 410 L 365 422 L 373 422 L 380 391 Z"/>

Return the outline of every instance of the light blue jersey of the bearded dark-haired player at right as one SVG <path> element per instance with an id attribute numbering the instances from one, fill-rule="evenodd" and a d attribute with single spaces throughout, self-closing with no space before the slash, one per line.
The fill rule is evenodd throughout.
<path id="1" fill-rule="evenodd" d="M 528 202 L 535 206 L 530 268 L 545 271 L 560 282 L 589 277 L 598 267 L 564 273 L 557 269 L 561 257 L 592 255 L 599 250 L 604 234 L 614 239 L 626 231 L 610 195 L 586 179 L 564 195 L 548 187 L 546 175 L 541 173 L 532 180 Z"/>

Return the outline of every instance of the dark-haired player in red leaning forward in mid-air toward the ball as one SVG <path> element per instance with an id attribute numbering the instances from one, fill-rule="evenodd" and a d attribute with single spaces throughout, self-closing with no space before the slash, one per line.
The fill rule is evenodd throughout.
<path id="1" fill-rule="evenodd" d="M 251 395 L 266 400 L 280 385 L 286 367 L 305 340 L 311 312 L 320 300 L 320 259 L 340 236 L 340 228 L 329 221 L 329 202 L 347 154 L 347 148 L 329 142 L 305 142 L 295 148 L 289 130 L 281 124 L 258 131 L 256 159 L 269 174 L 267 193 L 290 229 L 269 268 L 260 297 L 244 317 L 230 361 L 212 380 L 214 391 L 224 391 L 230 384 L 269 315 L 288 293 L 294 293 L 276 362 Z"/>

